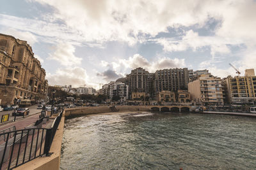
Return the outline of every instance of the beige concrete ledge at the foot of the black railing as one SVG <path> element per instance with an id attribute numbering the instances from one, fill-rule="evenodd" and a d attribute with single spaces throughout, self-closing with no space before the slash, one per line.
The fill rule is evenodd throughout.
<path id="1" fill-rule="evenodd" d="M 49 157 L 38 157 L 30 162 L 16 167 L 17 170 L 23 169 L 36 169 L 36 170 L 57 170 L 60 169 L 60 156 L 61 156 L 61 143 L 63 137 L 64 130 L 64 122 L 65 122 L 65 111 L 63 111 L 63 117 L 61 118 L 60 124 L 52 141 L 50 153 L 52 153 Z"/>

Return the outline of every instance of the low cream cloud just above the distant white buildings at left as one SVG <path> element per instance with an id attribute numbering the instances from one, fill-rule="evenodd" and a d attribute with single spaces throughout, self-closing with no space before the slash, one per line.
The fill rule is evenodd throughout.
<path id="1" fill-rule="evenodd" d="M 87 84 L 88 75 L 86 70 L 81 67 L 72 68 L 58 68 L 56 73 L 46 74 L 47 80 L 49 80 L 50 85 L 72 85 L 74 87 L 79 87 Z"/>

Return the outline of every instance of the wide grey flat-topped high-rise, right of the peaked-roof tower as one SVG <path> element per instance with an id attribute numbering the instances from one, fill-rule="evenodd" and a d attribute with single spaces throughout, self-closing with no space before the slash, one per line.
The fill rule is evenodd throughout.
<path id="1" fill-rule="evenodd" d="M 162 69 L 155 73 L 156 92 L 188 89 L 188 68 Z"/>

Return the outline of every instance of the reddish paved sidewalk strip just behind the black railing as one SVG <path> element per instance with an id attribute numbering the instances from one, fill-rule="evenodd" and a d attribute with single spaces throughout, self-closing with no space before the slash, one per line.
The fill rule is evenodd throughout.
<path id="1" fill-rule="evenodd" d="M 24 127 L 27 127 L 28 125 L 35 123 L 36 120 L 38 120 L 40 114 L 41 113 L 36 113 L 35 115 L 31 115 L 29 117 L 16 120 L 16 122 L 10 122 L 8 124 L 0 126 L 0 131 L 13 125 L 15 125 L 17 130 L 24 129 Z"/>

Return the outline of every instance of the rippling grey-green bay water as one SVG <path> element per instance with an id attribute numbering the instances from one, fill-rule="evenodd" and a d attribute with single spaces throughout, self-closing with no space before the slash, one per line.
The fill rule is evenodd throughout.
<path id="1" fill-rule="evenodd" d="M 256 119 L 118 113 L 65 123 L 61 169 L 256 169 Z"/>

